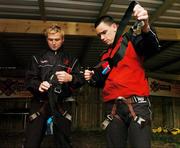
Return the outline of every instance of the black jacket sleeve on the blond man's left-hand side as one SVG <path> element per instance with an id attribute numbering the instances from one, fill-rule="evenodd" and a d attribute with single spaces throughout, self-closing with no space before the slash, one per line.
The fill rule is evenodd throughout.
<path id="1" fill-rule="evenodd" d="M 33 94 L 39 93 L 38 89 L 41 83 L 38 65 L 37 58 L 33 56 L 25 76 L 26 88 Z"/>

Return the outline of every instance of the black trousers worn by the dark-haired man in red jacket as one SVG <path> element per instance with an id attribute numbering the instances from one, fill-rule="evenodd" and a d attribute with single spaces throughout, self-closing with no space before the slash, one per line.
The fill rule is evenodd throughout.
<path id="1" fill-rule="evenodd" d="M 106 113 L 110 114 L 114 101 L 105 103 Z M 116 113 L 120 117 L 113 118 L 106 128 L 106 139 L 108 148 L 126 148 L 129 144 L 132 148 L 150 148 L 151 147 L 151 111 L 148 98 L 143 102 L 133 103 L 133 110 L 136 115 L 146 119 L 149 123 L 140 126 L 132 119 L 130 110 L 126 103 L 118 101 Z"/>

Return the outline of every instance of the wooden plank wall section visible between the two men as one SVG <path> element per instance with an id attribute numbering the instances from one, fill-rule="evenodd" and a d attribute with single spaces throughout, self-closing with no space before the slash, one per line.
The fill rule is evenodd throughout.
<path id="1" fill-rule="evenodd" d="M 78 104 L 73 108 L 73 128 L 99 129 L 104 120 L 101 90 L 85 85 L 81 88 L 76 100 Z"/>

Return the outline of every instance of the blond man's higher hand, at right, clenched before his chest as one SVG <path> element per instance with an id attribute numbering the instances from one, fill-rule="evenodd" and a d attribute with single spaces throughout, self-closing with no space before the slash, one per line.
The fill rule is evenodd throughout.
<path id="1" fill-rule="evenodd" d="M 65 71 L 57 71 L 56 77 L 60 84 L 71 82 L 72 78 L 73 78 L 71 74 L 69 74 Z"/>

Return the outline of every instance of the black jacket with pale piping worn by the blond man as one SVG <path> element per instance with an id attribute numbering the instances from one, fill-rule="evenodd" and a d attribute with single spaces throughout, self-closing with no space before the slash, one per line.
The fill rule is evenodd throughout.
<path id="1" fill-rule="evenodd" d="M 83 75 L 80 74 L 80 65 L 77 59 L 71 57 L 68 53 L 61 51 L 47 50 L 40 55 L 33 56 L 31 65 L 26 73 L 26 87 L 40 100 L 47 99 L 47 92 L 39 92 L 40 83 L 43 81 L 50 81 L 50 77 L 56 71 L 66 71 L 73 76 L 72 82 L 61 84 L 61 97 L 69 97 L 72 90 L 79 88 L 84 84 Z M 59 83 L 54 76 L 53 86 Z M 60 84 L 59 84 L 60 85 Z"/>

